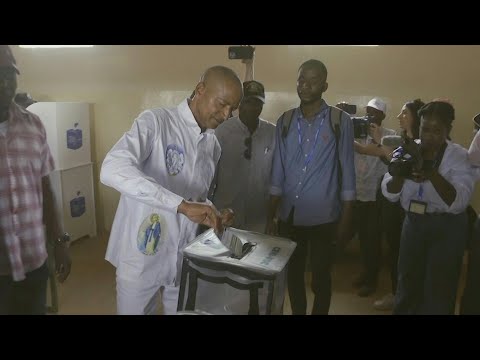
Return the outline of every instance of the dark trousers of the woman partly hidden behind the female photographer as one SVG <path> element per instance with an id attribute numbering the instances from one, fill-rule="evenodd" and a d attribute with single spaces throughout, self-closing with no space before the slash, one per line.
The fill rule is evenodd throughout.
<path id="1" fill-rule="evenodd" d="M 398 278 L 398 253 L 400 251 L 400 235 L 402 234 L 403 219 L 405 212 L 400 202 L 392 203 L 381 197 L 381 223 L 385 240 L 389 250 L 390 280 L 392 284 L 392 294 L 397 289 Z"/>

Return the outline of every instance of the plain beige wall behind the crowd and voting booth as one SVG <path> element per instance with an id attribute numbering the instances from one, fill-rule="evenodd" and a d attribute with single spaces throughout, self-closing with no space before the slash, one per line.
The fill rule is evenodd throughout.
<path id="1" fill-rule="evenodd" d="M 191 94 L 211 65 L 231 66 L 243 77 L 243 64 L 227 58 L 228 46 L 95 46 L 82 49 L 21 49 L 12 46 L 21 71 L 19 91 L 40 101 L 93 103 L 94 162 L 98 224 L 109 229 L 119 194 L 98 183 L 107 151 L 152 106 L 174 105 Z M 257 46 L 255 79 L 263 82 L 267 103 L 262 117 L 275 122 L 297 105 L 299 65 L 310 58 L 328 68 L 330 104 L 341 100 L 365 106 L 374 96 L 387 101 L 384 125 L 398 128 L 395 116 L 408 100 L 437 97 L 456 109 L 453 138 L 471 141 L 472 117 L 480 112 L 480 46 Z M 477 192 L 474 205 L 480 209 Z"/>

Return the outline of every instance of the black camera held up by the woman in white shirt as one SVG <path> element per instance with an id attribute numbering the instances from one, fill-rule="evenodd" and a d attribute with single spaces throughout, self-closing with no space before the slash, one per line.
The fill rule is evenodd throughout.
<path id="1" fill-rule="evenodd" d="M 408 147 L 400 146 L 392 153 L 392 161 L 388 164 L 388 172 L 392 176 L 410 177 L 414 170 L 423 168 L 420 145 L 408 138 L 404 139 L 404 144 Z"/>

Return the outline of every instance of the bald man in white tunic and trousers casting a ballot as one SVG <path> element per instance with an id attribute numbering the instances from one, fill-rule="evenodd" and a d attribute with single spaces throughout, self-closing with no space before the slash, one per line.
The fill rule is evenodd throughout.
<path id="1" fill-rule="evenodd" d="M 207 200 L 220 146 L 214 132 L 242 99 L 242 82 L 209 68 L 193 99 L 144 111 L 107 154 L 100 180 L 121 192 L 106 259 L 117 268 L 117 312 L 176 312 L 182 249 L 198 224 L 221 231 L 231 211 Z"/>

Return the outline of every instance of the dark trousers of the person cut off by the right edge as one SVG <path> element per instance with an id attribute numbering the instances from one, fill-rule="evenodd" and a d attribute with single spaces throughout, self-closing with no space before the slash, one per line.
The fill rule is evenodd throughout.
<path id="1" fill-rule="evenodd" d="M 470 239 L 467 280 L 460 314 L 480 315 L 480 219 L 475 222 L 472 239 Z"/>

